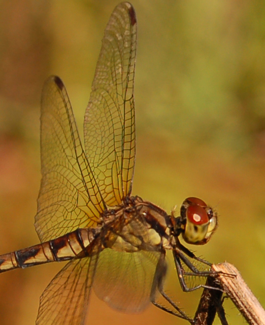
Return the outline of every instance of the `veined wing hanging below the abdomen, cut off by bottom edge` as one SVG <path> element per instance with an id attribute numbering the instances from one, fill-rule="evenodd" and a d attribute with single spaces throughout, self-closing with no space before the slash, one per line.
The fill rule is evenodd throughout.
<path id="1" fill-rule="evenodd" d="M 40 299 L 36 325 L 83 325 L 96 256 L 69 262 L 53 278 Z"/>

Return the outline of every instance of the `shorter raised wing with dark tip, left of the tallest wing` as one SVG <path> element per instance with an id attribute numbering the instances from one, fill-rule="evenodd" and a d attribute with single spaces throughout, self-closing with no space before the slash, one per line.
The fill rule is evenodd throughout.
<path id="1" fill-rule="evenodd" d="M 93 226 L 104 202 L 82 149 L 67 91 L 58 77 L 50 77 L 42 93 L 41 163 L 35 217 L 41 241 Z"/>

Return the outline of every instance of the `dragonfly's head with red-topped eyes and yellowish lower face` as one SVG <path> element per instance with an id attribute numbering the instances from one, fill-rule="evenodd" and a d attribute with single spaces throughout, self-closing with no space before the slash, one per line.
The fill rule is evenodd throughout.
<path id="1" fill-rule="evenodd" d="M 174 213 L 174 212 L 173 212 Z M 182 233 L 188 244 L 206 244 L 218 226 L 217 214 L 203 200 L 188 197 L 180 209 L 180 217 L 175 218 L 175 233 Z"/>

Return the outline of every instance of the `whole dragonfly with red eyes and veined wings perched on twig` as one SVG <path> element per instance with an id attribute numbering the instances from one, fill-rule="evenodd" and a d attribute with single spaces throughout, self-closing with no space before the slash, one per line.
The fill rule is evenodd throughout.
<path id="1" fill-rule="evenodd" d="M 105 29 L 84 119 L 84 145 L 63 82 L 51 76 L 41 99 L 41 171 L 35 227 L 40 244 L 0 255 L 0 272 L 68 261 L 40 298 L 37 325 L 83 325 L 91 289 L 111 308 L 137 313 L 152 303 L 193 323 L 164 292 L 166 252 L 181 288 L 207 276 L 180 242 L 206 244 L 217 213 L 184 200 L 178 215 L 132 196 L 136 136 L 134 77 L 137 20 L 131 4 L 114 9 Z M 184 268 L 185 267 L 185 268 Z M 186 271 L 186 268 L 189 272 Z M 164 299 L 170 307 L 157 300 Z"/>

